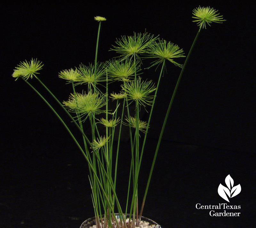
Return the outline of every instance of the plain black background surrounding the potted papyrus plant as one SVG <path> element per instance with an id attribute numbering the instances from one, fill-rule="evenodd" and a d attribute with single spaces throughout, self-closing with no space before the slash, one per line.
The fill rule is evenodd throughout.
<path id="1" fill-rule="evenodd" d="M 25 59 L 38 58 L 44 63 L 40 78 L 61 101 L 65 100 L 71 88 L 58 78 L 58 72 L 94 60 L 98 30 L 94 16 L 107 18 L 102 22 L 99 61 L 116 56 L 108 50 L 117 37 L 145 29 L 178 44 L 188 54 L 198 30 L 191 18 L 198 5 L 218 9 L 227 21 L 204 29 L 196 43 L 164 132 L 144 216 L 164 228 L 255 227 L 255 21 L 252 5 L 233 1 L 4 5 L 0 227 L 72 228 L 93 216 L 83 156 L 43 101 L 24 82 L 14 81 L 14 67 Z M 146 67 L 149 62 L 144 64 Z M 171 64 L 167 70 L 148 134 L 140 200 L 180 72 Z M 143 77 L 156 82 L 158 73 L 152 69 Z M 30 82 L 55 105 L 36 80 Z M 143 115 L 145 120 L 147 115 Z M 125 133 L 117 192 L 123 204 L 129 159 Z M 210 217 L 209 210 L 196 209 L 196 203 L 226 202 L 217 189 L 220 183 L 225 184 L 228 174 L 235 185 L 242 186 L 241 193 L 229 203 L 241 205 L 241 210 L 233 211 L 241 212 L 241 216 Z"/>

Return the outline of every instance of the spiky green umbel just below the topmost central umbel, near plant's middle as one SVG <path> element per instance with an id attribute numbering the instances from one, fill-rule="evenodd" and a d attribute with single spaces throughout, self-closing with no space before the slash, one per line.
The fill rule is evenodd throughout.
<path id="1" fill-rule="evenodd" d="M 125 81 L 130 79 L 136 73 L 139 72 L 140 65 L 137 62 L 134 65 L 134 62 L 131 59 L 125 60 L 110 60 L 106 64 L 108 76 L 113 80 Z"/>

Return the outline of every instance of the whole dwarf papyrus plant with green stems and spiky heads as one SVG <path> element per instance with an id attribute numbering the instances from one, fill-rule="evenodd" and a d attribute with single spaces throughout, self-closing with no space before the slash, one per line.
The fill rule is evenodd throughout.
<path id="1" fill-rule="evenodd" d="M 81 63 L 75 68 L 59 72 L 59 77 L 70 83 L 71 89 L 67 99 L 63 102 L 60 102 L 39 79 L 39 71 L 43 67 L 39 60 L 32 59 L 29 62 L 21 62 L 12 74 L 16 80 L 21 79 L 27 83 L 44 100 L 67 129 L 86 159 L 89 166 L 89 183 L 92 189 L 92 205 L 97 228 L 134 228 L 139 226 L 164 128 L 188 58 L 200 31 L 208 25 L 210 26 L 212 22 L 221 23 L 224 21 L 222 16 L 210 7 L 194 9 L 193 18 L 195 19 L 193 21 L 199 26 L 199 30 L 185 62 L 182 64 L 182 58 L 185 57 L 185 54 L 177 44 L 162 40 L 158 36 L 146 32 L 134 33 L 130 36 L 124 35 L 116 39 L 110 50 L 115 51 L 119 56 L 104 63 L 98 63 L 100 27 L 106 19 L 99 16 L 95 17 L 94 19 L 99 22 L 99 29 L 94 63 Z M 148 68 L 159 66 L 160 71 L 156 78 L 156 84 L 144 77 L 143 72 L 147 71 L 147 68 L 143 70 L 141 64 L 145 59 L 152 60 Z M 169 72 L 173 67 L 179 67 L 181 71 L 166 111 L 142 205 L 139 207 L 139 174 L 149 125 L 162 76 L 167 68 Z M 28 82 L 29 79 L 33 78 L 39 81 L 66 112 L 72 120 L 71 122 L 76 125 L 78 131 L 82 134 L 82 141 L 76 139 L 57 111 Z M 116 91 L 110 91 L 111 93 L 109 93 L 109 83 L 116 83 Z M 113 110 L 109 110 L 110 100 L 115 103 L 116 108 Z M 131 106 L 132 103 L 135 105 Z M 135 110 L 131 110 L 132 107 L 135 107 Z M 141 108 L 149 111 L 147 121 L 140 118 Z M 132 112 L 135 112 L 134 116 L 131 116 Z M 99 127 L 99 125 L 103 127 Z M 116 193 L 116 182 L 120 139 L 124 127 L 129 128 L 131 154 L 127 151 L 124 153 L 131 159 L 131 162 L 129 177 L 127 177 L 126 205 L 121 205 Z M 84 133 L 85 128 L 91 129 L 89 135 Z M 116 131 L 118 140 L 117 143 L 114 143 Z M 116 212 L 118 216 L 115 214 Z"/>

